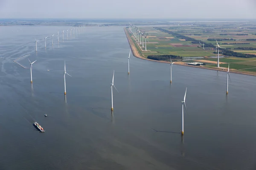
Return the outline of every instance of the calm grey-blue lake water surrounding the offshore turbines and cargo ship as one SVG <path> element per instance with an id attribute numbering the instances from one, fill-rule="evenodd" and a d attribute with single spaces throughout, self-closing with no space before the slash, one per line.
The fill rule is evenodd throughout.
<path id="1" fill-rule="evenodd" d="M 256 77 L 231 73 L 226 96 L 226 72 L 173 65 L 170 85 L 169 64 L 131 57 L 128 75 L 122 27 L 87 27 L 45 50 L 44 37 L 63 29 L 0 27 L 1 170 L 256 169 Z M 29 69 L 13 62 L 26 54 L 37 59 L 33 86 Z M 29 68 L 26 57 L 18 61 Z"/>

